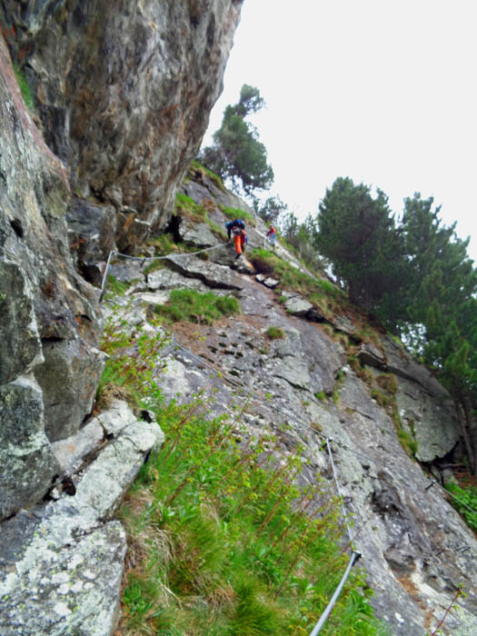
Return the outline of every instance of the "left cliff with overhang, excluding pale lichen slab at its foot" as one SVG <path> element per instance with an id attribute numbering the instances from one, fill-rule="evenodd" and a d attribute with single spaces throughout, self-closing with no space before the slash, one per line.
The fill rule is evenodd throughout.
<path id="1" fill-rule="evenodd" d="M 60 472 L 51 442 L 91 412 L 102 325 L 83 276 L 167 223 L 240 6 L 0 4 L 0 518 L 43 496 Z"/>

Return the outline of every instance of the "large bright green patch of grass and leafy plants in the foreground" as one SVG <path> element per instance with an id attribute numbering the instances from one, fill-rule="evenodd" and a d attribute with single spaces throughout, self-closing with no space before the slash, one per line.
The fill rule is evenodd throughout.
<path id="1" fill-rule="evenodd" d="M 337 501 L 319 479 L 296 485 L 302 448 L 282 462 L 280 433 L 243 430 L 246 403 L 231 418 L 205 417 L 202 395 L 164 404 L 154 380 L 164 338 L 125 326 L 116 319 L 104 330 L 102 392 L 126 387 L 137 407 L 155 413 L 165 442 L 120 510 L 129 546 L 120 631 L 309 634 L 348 561 Z M 369 594 L 354 568 L 322 633 L 384 633 Z"/>

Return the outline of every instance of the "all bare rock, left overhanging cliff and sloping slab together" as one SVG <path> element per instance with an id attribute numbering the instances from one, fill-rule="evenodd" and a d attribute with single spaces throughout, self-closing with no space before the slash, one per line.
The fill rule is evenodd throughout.
<path id="1" fill-rule="evenodd" d="M 166 399 L 202 391 L 210 413 L 223 414 L 247 395 L 249 431 L 286 422 L 281 452 L 303 442 L 306 479 L 318 472 L 334 488 L 328 441 L 378 615 L 395 634 L 424 634 L 462 583 L 467 598 L 442 630 L 475 632 L 477 545 L 422 470 L 459 452 L 448 394 L 283 247 L 253 263 L 217 247 L 224 209 L 246 206 L 200 169 L 182 183 L 172 215 L 221 90 L 240 5 L 0 4 L 0 631 L 8 636 L 114 631 L 125 538 L 111 518 L 162 436 L 151 413 L 121 402 L 87 419 L 113 311 L 90 283 L 101 282 L 112 249 L 154 252 L 144 240 L 160 229 L 173 243 L 214 249 L 205 260 L 175 251 L 156 271 L 146 270 L 151 260 L 118 259 L 111 273 L 129 288 L 116 320 L 156 330 L 151 308 L 176 288 L 232 294 L 242 308 L 220 329 L 199 324 L 193 335 L 176 325 L 156 377 Z M 263 225 L 253 224 L 249 251 L 263 244 Z M 282 337 L 271 340 L 270 327 Z"/>

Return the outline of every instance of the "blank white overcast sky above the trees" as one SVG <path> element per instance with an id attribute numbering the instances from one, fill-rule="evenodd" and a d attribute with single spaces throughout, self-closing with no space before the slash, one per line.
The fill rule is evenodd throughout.
<path id="1" fill-rule="evenodd" d="M 398 214 L 421 192 L 477 261 L 476 18 L 477 0 L 245 0 L 204 144 L 252 84 L 270 194 L 290 211 L 316 214 L 338 176 Z"/>

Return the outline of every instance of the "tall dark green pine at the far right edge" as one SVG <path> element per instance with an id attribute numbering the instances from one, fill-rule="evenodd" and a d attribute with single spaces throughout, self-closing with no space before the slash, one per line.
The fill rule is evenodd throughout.
<path id="1" fill-rule="evenodd" d="M 455 224 L 442 226 L 440 208 L 414 194 L 404 202 L 402 232 L 412 265 L 408 342 L 449 390 L 473 473 L 477 472 L 477 271 Z"/>

